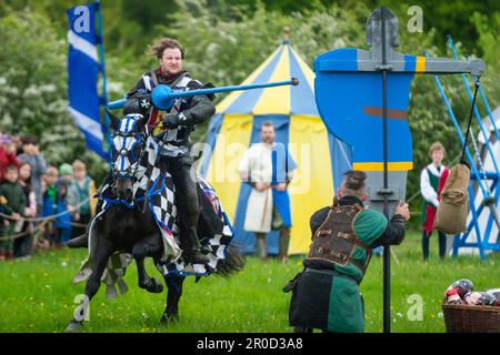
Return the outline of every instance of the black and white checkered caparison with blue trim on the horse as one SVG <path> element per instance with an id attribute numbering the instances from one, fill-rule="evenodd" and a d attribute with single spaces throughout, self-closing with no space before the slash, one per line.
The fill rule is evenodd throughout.
<path id="1" fill-rule="evenodd" d="M 147 195 L 149 207 L 154 216 L 154 221 L 160 227 L 163 241 L 163 256 L 156 265 L 157 268 L 167 274 L 178 274 L 183 276 L 208 276 L 217 271 L 219 263 L 226 258 L 226 250 L 233 237 L 233 231 L 228 216 L 217 197 L 213 187 L 202 178 L 199 178 L 198 184 L 201 191 L 206 194 L 217 215 L 223 222 L 223 227 L 220 233 L 217 233 L 211 239 L 202 240 L 202 252 L 209 257 L 208 264 L 190 264 L 182 257 L 182 251 L 179 242 L 179 229 L 176 223 L 177 206 L 174 200 L 174 185 L 172 176 L 169 172 L 160 170 L 158 154 L 161 146 L 152 136 L 148 136 L 146 141 L 147 152 L 139 161 L 137 169 L 137 182 L 133 184 L 134 200 L 131 202 L 121 201 L 113 193 L 111 186 L 106 184 L 102 187 L 101 199 L 104 200 L 103 210 L 107 211 L 112 205 L 124 204 L 128 207 L 133 207 L 134 203 L 141 203 Z M 92 243 L 92 233 L 90 229 L 90 244 Z M 90 245 L 89 244 L 89 245 Z M 91 248 L 89 248 L 91 253 Z M 128 287 L 122 280 L 126 274 L 127 266 L 132 262 L 132 256 L 128 253 L 116 253 L 108 262 L 108 266 L 101 278 L 101 282 L 108 286 L 108 297 L 118 296 L 117 286 L 123 294 Z M 92 255 L 83 263 L 79 274 L 73 282 L 82 282 L 90 275 L 92 264 Z"/>

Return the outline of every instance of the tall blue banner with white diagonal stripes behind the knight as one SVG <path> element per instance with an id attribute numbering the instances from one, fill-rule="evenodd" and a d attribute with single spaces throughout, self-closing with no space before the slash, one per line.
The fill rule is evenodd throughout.
<path id="1" fill-rule="evenodd" d="M 100 37 L 96 33 L 96 11 L 99 3 L 89 3 L 67 11 L 68 30 L 68 91 L 69 111 L 77 126 L 86 136 L 87 148 L 103 159 L 104 133 L 99 115 L 98 48 Z"/>

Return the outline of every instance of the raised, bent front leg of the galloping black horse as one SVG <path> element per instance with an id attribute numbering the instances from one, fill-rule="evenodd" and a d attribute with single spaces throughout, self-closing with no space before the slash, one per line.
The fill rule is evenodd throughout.
<path id="1" fill-rule="evenodd" d="M 151 293 L 163 292 L 163 285 L 156 280 L 150 277 L 146 272 L 144 258 L 147 256 L 154 256 L 161 248 L 161 237 L 158 233 L 148 235 L 147 237 L 138 241 L 133 244 L 132 256 L 136 258 L 137 271 L 139 274 L 139 287 L 146 288 Z"/>

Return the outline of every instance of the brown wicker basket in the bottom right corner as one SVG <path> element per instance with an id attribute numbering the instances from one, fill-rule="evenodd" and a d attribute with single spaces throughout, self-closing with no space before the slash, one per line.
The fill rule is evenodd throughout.
<path id="1" fill-rule="evenodd" d="M 500 307 L 442 304 L 447 333 L 500 333 Z"/>

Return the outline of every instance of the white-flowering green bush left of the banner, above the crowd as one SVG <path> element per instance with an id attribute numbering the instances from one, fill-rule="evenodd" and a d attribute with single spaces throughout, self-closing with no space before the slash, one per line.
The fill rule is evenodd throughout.
<path id="1" fill-rule="evenodd" d="M 43 39 L 43 40 L 40 40 Z M 47 17 L 30 10 L 0 19 L 0 126 L 39 138 L 46 159 L 59 165 L 77 156 L 102 175 L 106 165 L 86 150 L 67 110 L 67 43 Z M 96 176 L 94 175 L 94 176 Z"/>

